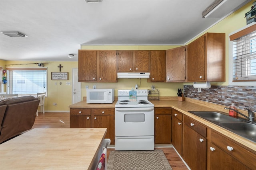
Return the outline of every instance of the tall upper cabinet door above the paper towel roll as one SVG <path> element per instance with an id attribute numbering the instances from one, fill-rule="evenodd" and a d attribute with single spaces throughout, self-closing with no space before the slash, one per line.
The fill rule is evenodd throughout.
<path id="1" fill-rule="evenodd" d="M 188 81 L 206 81 L 205 39 L 199 37 L 188 45 Z"/>

